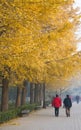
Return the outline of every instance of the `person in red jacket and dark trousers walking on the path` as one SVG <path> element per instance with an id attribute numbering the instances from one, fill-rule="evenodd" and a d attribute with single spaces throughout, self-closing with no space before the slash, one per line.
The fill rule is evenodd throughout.
<path id="1" fill-rule="evenodd" d="M 59 108 L 61 106 L 61 98 L 56 94 L 52 100 L 52 106 L 55 108 L 55 116 L 59 116 Z"/>

